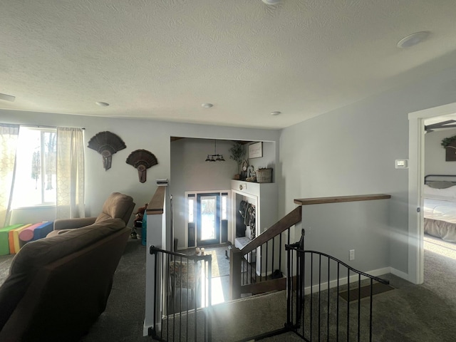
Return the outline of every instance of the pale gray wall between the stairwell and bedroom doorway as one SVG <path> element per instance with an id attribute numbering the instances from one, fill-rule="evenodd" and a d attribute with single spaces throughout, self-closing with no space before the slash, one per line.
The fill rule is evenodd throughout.
<path id="1" fill-rule="evenodd" d="M 307 247 L 325 241 L 326 250 L 346 260 L 348 249 L 376 251 L 385 266 L 408 273 L 408 170 L 396 170 L 395 159 L 408 157 L 408 113 L 455 102 L 456 68 L 423 78 L 358 103 L 333 110 L 283 130 L 279 147 L 279 216 L 295 207 L 293 199 L 385 193 L 389 199 L 389 249 L 379 251 L 369 234 L 318 229 L 307 235 Z M 356 214 L 353 212 L 352 214 Z M 346 217 L 339 217 L 346 219 Z M 303 219 L 306 228 L 306 217 Z M 353 232 L 351 232 L 353 233 Z M 369 248 L 372 247 L 372 248 Z M 385 258 L 385 255 L 388 258 Z M 361 270 L 370 270 L 365 255 Z M 388 265 L 389 264 L 389 265 Z"/>

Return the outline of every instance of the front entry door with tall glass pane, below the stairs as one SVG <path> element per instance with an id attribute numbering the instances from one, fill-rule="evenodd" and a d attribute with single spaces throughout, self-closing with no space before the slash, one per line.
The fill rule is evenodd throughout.
<path id="1" fill-rule="evenodd" d="M 197 195 L 197 246 L 220 243 L 220 194 Z"/>

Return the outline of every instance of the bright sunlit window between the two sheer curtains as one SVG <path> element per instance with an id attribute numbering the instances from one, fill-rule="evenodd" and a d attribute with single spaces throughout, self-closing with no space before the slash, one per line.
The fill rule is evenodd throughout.
<path id="1" fill-rule="evenodd" d="M 19 130 L 12 207 L 56 204 L 56 130 Z"/>

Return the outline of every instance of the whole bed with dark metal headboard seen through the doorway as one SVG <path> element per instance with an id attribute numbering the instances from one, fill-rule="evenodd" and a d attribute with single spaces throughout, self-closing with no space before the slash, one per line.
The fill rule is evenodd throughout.
<path id="1" fill-rule="evenodd" d="M 424 230 L 456 242 L 456 175 L 427 175 L 424 193 Z"/>

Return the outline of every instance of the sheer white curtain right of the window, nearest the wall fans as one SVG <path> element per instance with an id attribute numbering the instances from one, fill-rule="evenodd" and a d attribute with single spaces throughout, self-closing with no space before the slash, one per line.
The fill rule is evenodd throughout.
<path id="1" fill-rule="evenodd" d="M 86 217 L 84 139 L 81 128 L 57 128 L 56 218 Z"/>

